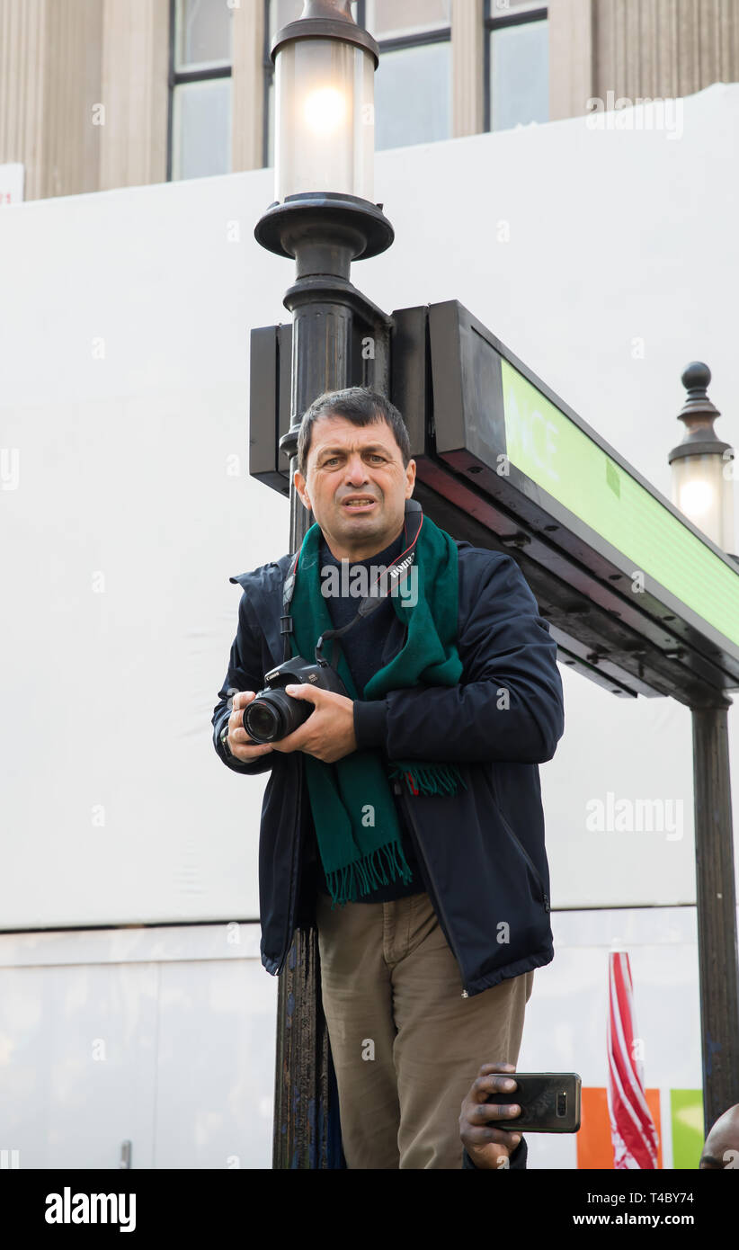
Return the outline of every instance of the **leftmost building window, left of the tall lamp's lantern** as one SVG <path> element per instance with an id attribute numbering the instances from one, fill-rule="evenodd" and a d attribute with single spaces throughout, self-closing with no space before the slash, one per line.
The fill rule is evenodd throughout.
<path id="1" fill-rule="evenodd" d="M 226 0 L 170 0 L 168 178 L 231 170 L 231 22 Z"/>

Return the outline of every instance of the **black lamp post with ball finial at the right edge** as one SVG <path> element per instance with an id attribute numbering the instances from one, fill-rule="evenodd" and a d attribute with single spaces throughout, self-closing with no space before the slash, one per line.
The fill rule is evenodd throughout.
<path id="1" fill-rule="evenodd" d="M 678 414 L 685 435 L 669 454 L 673 501 L 716 546 L 733 545 L 733 458 L 714 431 L 719 410 L 708 398 L 710 369 L 688 365 L 688 398 Z M 734 556 L 736 559 L 736 556 Z M 693 708 L 693 804 L 695 812 L 695 898 L 700 976 L 700 1042 L 705 1132 L 739 1102 L 739 968 L 736 892 L 729 785 L 731 700 L 716 695 L 713 708 Z"/>

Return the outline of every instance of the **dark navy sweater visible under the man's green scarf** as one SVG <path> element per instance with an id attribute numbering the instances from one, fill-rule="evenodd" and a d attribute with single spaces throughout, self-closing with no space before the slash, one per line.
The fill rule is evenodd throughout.
<path id="1" fill-rule="evenodd" d="M 344 586 L 341 586 L 341 561 L 336 560 L 336 558 L 331 554 L 324 539 L 321 542 L 320 568 L 338 569 L 339 589 L 350 589 L 353 569 L 359 565 L 363 565 L 368 569 L 368 571 L 373 566 L 386 568 L 393 564 L 403 550 L 404 535 L 400 534 L 399 538 L 390 544 L 390 546 L 385 548 L 384 551 L 378 551 L 376 555 L 370 556 L 368 560 L 351 560 L 349 562 L 349 578 L 344 576 Z M 360 602 L 361 599 L 359 596 L 350 594 L 326 596 L 329 615 L 334 622 L 334 629 L 340 629 L 343 625 L 346 625 L 350 620 L 353 620 L 354 616 L 356 616 L 356 610 Z M 353 625 L 351 629 L 340 639 L 344 659 L 346 660 L 346 665 L 360 698 L 368 681 L 380 668 L 379 656 L 383 652 L 388 628 L 391 624 L 394 615 L 395 609 L 393 608 L 390 598 L 388 598 L 381 608 L 378 608 L 363 620 L 356 621 L 356 624 Z M 330 642 L 326 645 L 325 651 L 329 658 L 331 656 L 330 645 Z M 403 881 L 391 881 L 389 885 L 380 885 L 370 894 L 364 894 L 361 898 L 358 898 L 358 902 L 390 902 L 393 899 L 405 899 L 410 894 L 423 894 L 426 890 L 410 831 L 406 826 L 405 814 L 400 806 L 400 800 L 395 795 L 393 795 L 393 798 L 395 800 L 395 810 L 398 811 L 398 820 L 400 822 L 403 854 L 405 855 L 405 861 L 413 872 L 413 879 L 408 885 L 404 885 Z M 318 888 L 324 894 L 329 894 L 326 879 L 320 862 L 320 855 L 316 856 L 316 859 Z"/>

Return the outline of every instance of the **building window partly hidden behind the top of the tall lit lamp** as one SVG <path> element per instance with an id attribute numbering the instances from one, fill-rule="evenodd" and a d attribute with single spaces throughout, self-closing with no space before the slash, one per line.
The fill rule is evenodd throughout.
<path id="1" fill-rule="evenodd" d="M 451 135 L 451 0 L 356 0 L 354 16 L 380 45 L 375 74 L 375 149 Z M 265 165 L 274 164 L 274 65 L 269 49 L 301 0 L 266 0 Z"/>

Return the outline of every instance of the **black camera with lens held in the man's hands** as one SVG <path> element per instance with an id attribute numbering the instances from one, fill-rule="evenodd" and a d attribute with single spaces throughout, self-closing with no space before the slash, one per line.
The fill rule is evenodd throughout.
<path id="1" fill-rule="evenodd" d="M 313 704 L 285 694 L 285 686 L 291 685 L 308 685 L 319 690 L 333 690 L 336 695 L 346 695 L 344 682 L 328 660 L 310 662 L 301 655 L 285 660 L 265 675 L 264 688 L 244 709 L 244 729 L 255 742 L 278 742 L 305 724 L 310 716 Z"/>

